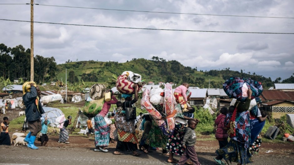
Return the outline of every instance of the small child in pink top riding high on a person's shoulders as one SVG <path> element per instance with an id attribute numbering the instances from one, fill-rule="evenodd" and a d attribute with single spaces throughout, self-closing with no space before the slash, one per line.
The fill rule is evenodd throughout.
<path id="1" fill-rule="evenodd" d="M 178 86 L 174 92 L 175 101 L 181 105 L 183 112 L 187 111 L 188 99 L 187 99 L 186 92 L 188 88 L 189 88 L 189 84 L 183 83 L 182 85 Z"/>

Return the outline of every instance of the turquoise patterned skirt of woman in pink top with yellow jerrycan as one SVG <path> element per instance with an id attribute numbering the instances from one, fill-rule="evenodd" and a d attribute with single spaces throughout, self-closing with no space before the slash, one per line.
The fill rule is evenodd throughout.
<path id="1" fill-rule="evenodd" d="M 109 144 L 109 126 L 106 124 L 104 117 L 96 115 L 95 121 L 95 146 L 107 147 Z"/>

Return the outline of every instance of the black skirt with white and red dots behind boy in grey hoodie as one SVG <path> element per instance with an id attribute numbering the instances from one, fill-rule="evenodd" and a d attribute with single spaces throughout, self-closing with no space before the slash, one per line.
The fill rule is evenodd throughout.
<path id="1" fill-rule="evenodd" d="M 176 155 L 182 155 L 185 152 L 185 148 L 183 148 L 182 144 L 185 132 L 180 129 L 181 127 L 182 124 L 178 122 L 175 123 L 174 134 L 168 137 L 168 142 L 166 144 L 166 150 Z"/>

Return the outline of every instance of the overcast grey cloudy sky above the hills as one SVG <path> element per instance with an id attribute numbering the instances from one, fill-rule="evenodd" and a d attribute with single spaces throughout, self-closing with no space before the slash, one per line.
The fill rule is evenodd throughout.
<path id="1" fill-rule="evenodd" d="M 30 0 L 0 0 L 29 3 Z M 294 17 L 293 0 L 35 0 L 43 5 L 152 12 Z M 30 21 L 30 5 L 0 5 L 0 19 Z M 294 19 L 126 12 L 34 5 L 34 21 L 113 27 L 294 33 Z M 0 20 L 0 43 L 30 48 L 30 23 Z M 288 78 L 293 34 L 181 32 L 34 24 L 34 54 L 65 61 L 118 61 L 158 56 L 198 70 L 230 68 Z M 122 70 L 123 71 L 123 70 Z"/>

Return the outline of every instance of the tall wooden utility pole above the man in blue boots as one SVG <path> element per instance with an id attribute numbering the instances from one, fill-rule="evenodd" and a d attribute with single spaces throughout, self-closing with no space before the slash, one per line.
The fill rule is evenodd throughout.
<path id="1" fill-rule="evenodd" d="M 31 0 L 31 81 L 34 81 L 34 1 Z"/>

